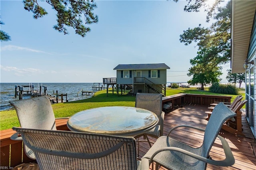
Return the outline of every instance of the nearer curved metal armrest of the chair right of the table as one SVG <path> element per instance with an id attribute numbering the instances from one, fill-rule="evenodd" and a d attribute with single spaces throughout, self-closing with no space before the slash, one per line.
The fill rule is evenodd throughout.
<path id="1" fill-rule="evenodd" d="M 194 154 L 192 152 L 189 152 L 187 150 L 184 150 L 184 149 L 181 149 L 181 148 L 176 148 L 176 147 L 165 147 L 165 148 L 162 148 L 162 149 L 159 149 L 157 150 L 150 158 L 150 161 L 149 161 L 149 164 L 152 163 L 153 161 L 153 158 L 154 156 L 156 156 L 156 154 L 162 152 L 162 151 L 166 151 L 166 150 L 174 150 L 174 151 L 177 151 L 177 152 L 181 152 L 183 154 L 186 154 L 188 156 L 191 156 L 192 158 L 195 158 L 195 159 L 198 159 L 198 160 L 201 160 L 203 162 L 206 162 L 207 164 L 213 164 L 213 165 L 216 165 L 216 166 L 232 166 L 234 163 L 235 163 L 235 159 L 234 159 L 234 156 L 232 154 L 232 151 L 228 145 L 228 142 L 222 138 L 221 136 L 218 135 L 218 138 L 220 138 L 221 140 L 221 143 L 222 143 L 222 147 L 224 149 L 224 153 L 225 153 L 225 156 L 226 158 L 224 160 L 212 160 L 210 158 L 205 158 L 205 157 L 202 157 L 200 155 L 197 155 L 197 154 Z"/>

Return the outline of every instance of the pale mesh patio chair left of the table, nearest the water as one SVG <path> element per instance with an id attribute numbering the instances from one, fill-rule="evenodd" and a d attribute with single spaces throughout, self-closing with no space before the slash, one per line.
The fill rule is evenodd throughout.
<path id="1" fill-rule="evenodd" d="M 48 97 L 33 97 L 18 101 L 10 101 L 11 105 L 16 109 L 20 127 L 56 130 L 54 112 Z M 68 118 L 56 118 L 68 119 Z M 12 140 L 22 140 L 18 133 L 11 136 Z M 28 147 L 24 147 L 26 155 L 31 159 L 36 159 L 34 152 Z"/>

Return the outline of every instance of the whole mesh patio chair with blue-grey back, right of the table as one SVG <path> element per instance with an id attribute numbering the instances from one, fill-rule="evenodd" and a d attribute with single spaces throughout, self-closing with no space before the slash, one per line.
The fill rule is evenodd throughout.
<path id="1" fill-rule="evenodd" d="M 228 142 L 218 135 L 218 133 L 220 132 L 223 123 L 234 116 L 236 116 L 236 114 L 233 111 L 223 103 L 219 103 L 214 107 L 212 116 L 205 129 L 192 127 L 190 125 L 174 127 L 170 130 L 167 136 L 159 137 L 142 159 L 147 158 L 150 160 L 150 163 L 152 163 L 152 161 L 156 162 L 156 167 L 160 164 L 161 166 L 172 170 L 202 170 L 206 169 L 207 163 L 217 166 L 231 166 L 235 162 L 234 156 L 228 146 Z M 179 127 L 195 128 L 204 131 L 202 146 L 199 148 L 192 148 L 184 142 L 171 138 L 169 134 Z M 216 137 L 221 140 L 226 155 L 225 160 L 216 161 L 212 160 L 209 156 L 210 149 L 212 148 Z"/>

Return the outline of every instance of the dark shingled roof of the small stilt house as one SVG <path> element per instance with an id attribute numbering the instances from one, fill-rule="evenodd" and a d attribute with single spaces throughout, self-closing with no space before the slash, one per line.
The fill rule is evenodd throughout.
<path id="1" fill-rule="evenodd" d="M 118 64 L 114 70 L 170 69 L 166 64 Z"/>

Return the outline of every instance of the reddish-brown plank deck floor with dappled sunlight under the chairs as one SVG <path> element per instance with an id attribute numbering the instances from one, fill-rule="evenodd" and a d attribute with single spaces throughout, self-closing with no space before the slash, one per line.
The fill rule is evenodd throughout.
<path id="1" fill-rule="evenodd" d="M 205 128 L 208 121 L 205 120 L 207 114 L 204 112 L 207 110 L 207 106 L 203 105 L 184 105 L 184 107 L 180 107 L 170 113 L 166 113 L 164 117 L 164 135 L 168 133 L 170 128 L 178 125 L 192 125 Z M 243 133 L 246 135 L 246 137 L 235 136 L 234 134 L 226 132 L 225 130 L 220 131 L 220 135 L 228 141 L 228 144 L 235 158 L 235 164 L 229 167 L 218 167 L 208 164 L 207 170 L 256 169 L 255 141 L 244 114 L 242 115 L 242 124 L 244 129 Z M 183 128 L 182 130 L 175 130 L 171 136 L 190 144 L 192 147 L 201 146 L 204 137 L 203 132 L 187 128 Z M 147 150 L 147 144 L 141 143 L 139 158 L 141 158 Z M 210 150 L 210 156 L 214 160 L 222 160 L 225 158 L 221 142 L 218 138 Z M 160 169 L 165 170 L 165 168 L 162 167 Z"/>

